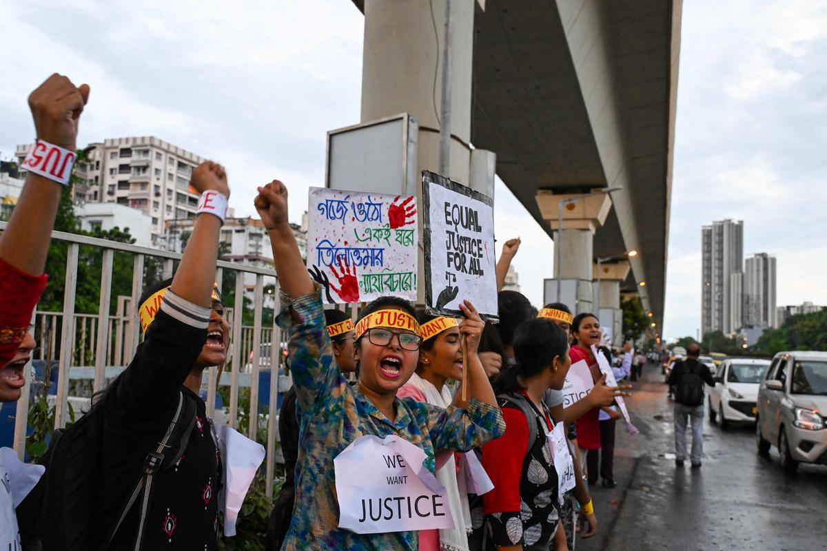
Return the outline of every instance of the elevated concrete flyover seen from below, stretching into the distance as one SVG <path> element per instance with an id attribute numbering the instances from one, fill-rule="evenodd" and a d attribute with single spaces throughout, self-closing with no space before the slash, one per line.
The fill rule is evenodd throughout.
<path id="1" fill-rule="evenodd" d="M 365 0 L 352 1 L 365 12 Z M 579 250 L 591 249 L 593 260 L 637 250 L 630 271 L 615 271 L 624 277 L 617 288 L 638 292 L 660 333 L 681 0 L 477 0 L 464 7 L 471 1 L 452 0 L 473 11 L 470 147 L 496 153 L 496 173 L 552 238 L 556 196 L 622 187 L 608 214 L 598 206 L 602 220 L 578 225 L 570 219 L 588 216 L 564 211 L 562 278 L 591 280 L 594 271 L 581 263 L 566 273 L 566 230 L 588 228 L 593 238 Z M 428 1 L 419 3 L 428 9 Z M 441 28 L 443 1 L 431 4 Z M 423 65 L 433 70 L 430 60 Z M 600 306 L 613 307 L 607 300 L 601 293 Z"/>

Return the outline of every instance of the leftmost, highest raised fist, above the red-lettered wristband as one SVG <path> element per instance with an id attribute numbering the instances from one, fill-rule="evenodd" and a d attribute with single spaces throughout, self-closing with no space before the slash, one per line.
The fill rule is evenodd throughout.
<path id="1" fill-rule="evenodd" d="M 76 151 L 78 120 L 88 99 L 88 84 L 75 88 L 69 78 L 57 73 L 46 78 L 29 95 L 29 108 L 35 120 L 37 139 L 59 145 L 65 150 Z"/>

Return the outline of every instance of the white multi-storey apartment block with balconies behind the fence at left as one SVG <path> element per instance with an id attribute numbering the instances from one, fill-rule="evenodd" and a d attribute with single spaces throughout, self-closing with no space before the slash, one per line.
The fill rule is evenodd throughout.
<path id="1" fill-rule="evenodd" d="M 30 149 L 18 145 L 15 154 L 22 161 Z M 151 216 L 155 245 L 165 245 L 160 241 L 167 221 L 195 217 L 198 193 L 189 178 L 203 161 L 199 155 L 154 136 L 112 138 L 85 150 L 88 162 L 76 170 L 85 186 L 74 189 L 76 203 L 114 202 L 143 211 Z"/>

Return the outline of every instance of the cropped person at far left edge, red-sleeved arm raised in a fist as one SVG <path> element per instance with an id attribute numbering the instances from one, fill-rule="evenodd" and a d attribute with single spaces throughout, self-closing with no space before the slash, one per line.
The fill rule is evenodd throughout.
<path id="1" fill-rule="evenodd" d="M 28 175 L 20 200 L 0 236 L 0 401 L 17 401 L 26 385 L 23 369 L 36 345 L 31 314 L 46 286 L 51 230 L 77 157 L 78 121 L 88 97 L 87 84 L 75 87 L 60 74 L 29 96 L 37 140 L 22 164 Z M 6 463 L 16 460 L 12 450 L 0 452 L 0 479 L 8 480 Z M 22 549 L 12 506 L 17 498 L 8 484 L 0 485 L 0 549 Z"/>

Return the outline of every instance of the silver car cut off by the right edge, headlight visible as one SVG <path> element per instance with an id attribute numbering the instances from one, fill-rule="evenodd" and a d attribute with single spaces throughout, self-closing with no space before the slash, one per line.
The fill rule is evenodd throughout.
<path id="1" fill-rule="evenodd" d="M 827 464 L 827 352 L 781 352 L 758 390 L 758 453 L 772 445 L 784 470 Z"/>

